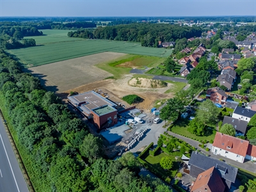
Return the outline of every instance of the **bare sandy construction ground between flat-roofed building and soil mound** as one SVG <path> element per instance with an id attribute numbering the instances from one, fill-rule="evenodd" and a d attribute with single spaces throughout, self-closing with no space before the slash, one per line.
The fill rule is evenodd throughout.
<path id="1" fill-rule="evenodd" d="M 128 84 L 131 78 L 132 75 L 128 74 L 125 75 L 124 78 L 118 79 L 116 81 L 113 79 L 97 81 L 95 83 L 84 84 L 83 86 L 67 90 L 65 91 L 65 93 L 70 93 L 71 91 L 83 93 L 98 88 L 103 92 L 108 93 L 108 95 L 110 96 L 109 99 L 123 103 L 125 102 L 124 100 L 122 100 L 122 97 L 124 97 L 125 95 L 136 94 L 143 98 L 143 102 L 134 105 L 137 108 L 143 109 L 145 111 L 150 111 L 155 100 L 173 97 L 173 93 L 164 93 L 166 92 L 166 90 L 170 89 L 170 87 L 172 86 L 171 83 L 168 83 L 168 86 L 166 86 L 165 88 L 138 88 L 130 86 Z M 125 104 L 126 106 L 129 106 L 129 104 Z"/>

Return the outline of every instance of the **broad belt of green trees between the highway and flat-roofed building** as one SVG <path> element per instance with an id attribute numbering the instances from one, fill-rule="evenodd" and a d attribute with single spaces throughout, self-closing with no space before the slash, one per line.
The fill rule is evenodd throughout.
<path id="1" fill-rule="evenodd" d="M 19 66 L 0 51 L 1 110 L 35 191 L 172 191 L 140 176 L 132 153 L 104 158 L 102 140 Z"/>

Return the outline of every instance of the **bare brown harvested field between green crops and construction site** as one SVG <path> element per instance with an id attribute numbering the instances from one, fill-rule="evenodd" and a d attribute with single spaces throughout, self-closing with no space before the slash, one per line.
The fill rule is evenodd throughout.
<path id="1" fill-rule="evenodd" d="M 124 53 L 118 52 L 101 52 L 71 60 L 31 67 L 26 69 L 26 72 L 31 72 L 33 76 L 39 77 L 47 90 L 62 93 L 72 88 L 113 76 L 113 74 L 94 65 L 115 60 L 124 55 Z"/>

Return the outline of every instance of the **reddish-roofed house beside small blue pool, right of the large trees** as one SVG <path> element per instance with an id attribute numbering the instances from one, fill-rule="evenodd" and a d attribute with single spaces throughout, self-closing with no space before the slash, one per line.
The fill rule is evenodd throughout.
<path id="1" fill-rule="evenodd" d="M 207 90 L 206 99 L 210 99 L 214 103 L 224 105 L 227 102 L 228 95 L 216 86 Z"/>

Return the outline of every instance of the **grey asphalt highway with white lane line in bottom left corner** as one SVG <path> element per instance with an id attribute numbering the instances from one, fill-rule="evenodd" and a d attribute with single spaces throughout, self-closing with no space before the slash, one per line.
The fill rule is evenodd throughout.
<path id="1" fill-rule="evenodd" d="M 19 163 L 0 119 L 0 191 L 28 191 Z"/>

